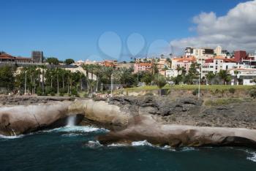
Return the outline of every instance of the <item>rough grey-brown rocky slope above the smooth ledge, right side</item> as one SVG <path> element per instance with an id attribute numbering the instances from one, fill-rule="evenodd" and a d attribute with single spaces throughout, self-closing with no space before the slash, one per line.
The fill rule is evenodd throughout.
<path id="1" fill-rule="evenodd" d="M 223 105 L 205 105 L 192 97 L 170 99 L 170 96 L 117 96 L 110 104 L 132 115 L 152 115 L 161 123 L 256 129 L 256 101 L 249 99 Z"/>

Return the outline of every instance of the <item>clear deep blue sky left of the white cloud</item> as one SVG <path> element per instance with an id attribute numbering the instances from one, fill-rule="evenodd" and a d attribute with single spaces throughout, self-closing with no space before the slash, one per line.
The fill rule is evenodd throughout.
<path id="1" fill-rule="evenodd" d="M 192 18 L 200 12 L 225 15 L 238 0 L 0 0 L 0 50 L 14 56 L 30 56 L 42 50 L 45 56 L 61 60 L 85 60 L 89 56 L 110 58 L 101 47 L 116 50 L 111 37 L 99 47 L 99 37 L 113 31 L 121 39 L 121 60 L 129 59 L 127 39 L 138 33 L 146 45 L 144 56 L 154 40 L 191 37 Z M 135 42 L 136 43 L 136 42 Z M 103 51 L 103 52 L 102 52 Z M 98 59 L 98 58 L 96 58 Z"/>

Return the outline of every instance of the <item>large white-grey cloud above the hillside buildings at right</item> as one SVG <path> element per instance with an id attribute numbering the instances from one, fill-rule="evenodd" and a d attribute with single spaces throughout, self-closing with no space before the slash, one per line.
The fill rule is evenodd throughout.
<path id="1" fill-rule="evenodd" d="M 176 50 L 184 47 L 217 47 L 227 50 L 256 50 L 256 0 L 238 4 L 217 17 L 214 12 L 202 12 L 193 18 L 197 36 L 175 39 L 170 45 Z"/>

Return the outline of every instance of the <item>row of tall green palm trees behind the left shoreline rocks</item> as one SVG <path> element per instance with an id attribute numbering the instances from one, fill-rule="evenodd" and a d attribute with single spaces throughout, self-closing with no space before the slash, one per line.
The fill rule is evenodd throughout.
<path id="1" fill-rule="evenodd" d="M 55 93 L 70 93 L 72 88 L 83 90 L 83 80 L 86 80 L 82 72 L 70 72 L 66 69 L 47 69 L 45 66 L 29 66 L 20 69 L 15 75 L 15 87 L 21 91 L 30 91 L 32 94 L 42 91 L 42 94 L 50 89 Z"/>

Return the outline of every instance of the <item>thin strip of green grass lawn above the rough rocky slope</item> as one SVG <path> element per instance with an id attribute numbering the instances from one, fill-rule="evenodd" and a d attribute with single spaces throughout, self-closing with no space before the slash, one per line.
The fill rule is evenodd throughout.
<path id="1" fill-rule="evenodd" d="M 250 89 L 254 86 L 231 86 L 231 85 L 213 85 L 213 86 L 206 86 L 206 85 L 201 85 L 200 89 L 201 90 L 227 90 L 229 88 L 235 88 L 236 90 L 239 89 Z M 163 89 L 168 89 L 171 88 L 173 90 L 195 90 L 198 88 L 197 85 L 175 85 L 175 86 L 169 86 L 166 85 Z M 142 87 L 135 87 L 135 88 L 125 88 L 124 91 L 151 91 L 151 90 L 157 90 L 159 89 L 157 86 L 142 86 Z"/>

